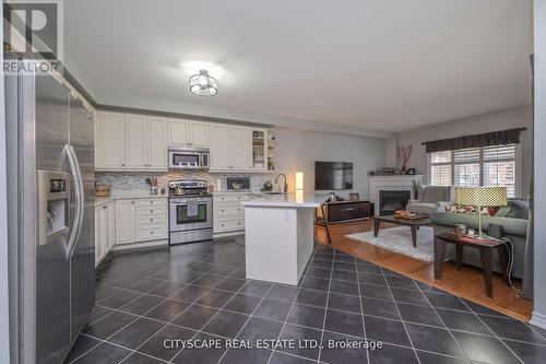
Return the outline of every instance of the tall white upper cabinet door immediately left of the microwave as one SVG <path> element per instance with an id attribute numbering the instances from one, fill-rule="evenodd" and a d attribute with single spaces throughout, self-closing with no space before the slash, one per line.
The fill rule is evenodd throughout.
<path id="1" fill-rule="evenodd" d="M 167 167 L 167 119 L 146 117 L 146 166 L 151 168 Z"/>

